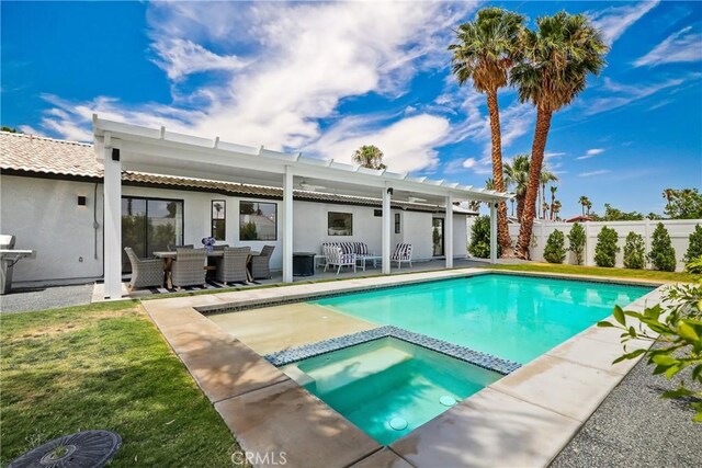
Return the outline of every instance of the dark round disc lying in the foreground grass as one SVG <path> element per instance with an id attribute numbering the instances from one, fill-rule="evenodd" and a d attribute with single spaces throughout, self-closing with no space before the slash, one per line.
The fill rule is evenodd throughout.
<path id="1" fill-rule="evenodd" d="M 100 468 L 110 461 L 120 445 L 122 438 L 114 432 L 83 431 L 47 442 L 15 458 L 8 468 Z"/>

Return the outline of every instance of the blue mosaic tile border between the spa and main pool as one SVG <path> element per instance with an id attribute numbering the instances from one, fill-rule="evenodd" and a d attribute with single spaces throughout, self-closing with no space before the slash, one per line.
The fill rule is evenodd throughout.
<path id="1" fill-rule="evenodd" d="M 421 333 L 415 333 L 394 326 L 383 326 L 372 330 L 365 330 L 346 334 L 343 336 L 318 341 L 316 343 L 291 347 L 267 354 L 263 357 L 274 366 L 281 367 L 297 361 L 319 356 L 321 354 L 331 353 L 333 351 L 343 350 L 344 347 L 367 343 L 369 341 L 380 340 L 383 338 L 403 340 L 465 363 L 473 364 L 488 370 L 494 370 L 501 375 L 508 375 L 521 367 L 521 364 L 512 361 L 502 359 L 500 357 L 492 356 L 491 354 L 480 353 L 466 346 L 458 346 L 457 344 L 427 336 Z"/>

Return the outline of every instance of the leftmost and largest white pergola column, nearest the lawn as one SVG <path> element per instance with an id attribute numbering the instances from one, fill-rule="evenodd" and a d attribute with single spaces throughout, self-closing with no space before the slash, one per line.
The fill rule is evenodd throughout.
<path id="1" fill-rule="evenodd" d="M 104 281 L 105 298 L 122 297 L 122 161 L 114 161 L 112 138 L 104 136 Z"/>

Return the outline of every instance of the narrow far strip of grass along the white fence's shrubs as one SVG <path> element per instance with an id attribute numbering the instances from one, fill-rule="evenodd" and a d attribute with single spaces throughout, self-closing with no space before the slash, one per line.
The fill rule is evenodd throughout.
<path id="1" fill-rule="evenodd" d="M 602 269 L 600 266 L 558 265 L 554 263 L 520 263 L 516 265 L 489 265 L 488 267 L 516 272 L 564 273 L 569 275 L 649 279 L 655 282 L 695 282 L 702 279 L 702 275 L 693 275 L 691 273 L 670 273 L 655 270 Z"/>

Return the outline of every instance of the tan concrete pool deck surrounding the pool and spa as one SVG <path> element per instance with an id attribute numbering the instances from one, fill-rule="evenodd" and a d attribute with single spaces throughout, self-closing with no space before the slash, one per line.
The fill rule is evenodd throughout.
<path id="1" fill-rule="evenodd" d="M 291 466 L 546 466 L 636 364 L 637 359 L 611 365 L 621 354 L 618 330 L 585 330 L 382 448 L 263 359 L 245 344 L 246 340 L 239 340 L 236 330 L 233 335 L 195 310 L 270 305 L 331 292 L 484 273 L 512 274 L 452 270 L 148 300 L 143 305 L 245 450 L 285 452 Z M 600 282 L 573 275 L 543 276 Z M 660 288 L 626 309 L 643 310 L 659 300 Z M 256 313 L 237 313 L 249 312 Z M 631 343 L 630 349 L 649 344 Z M 265 345 L 259 343 L 261 349 Z"/>

